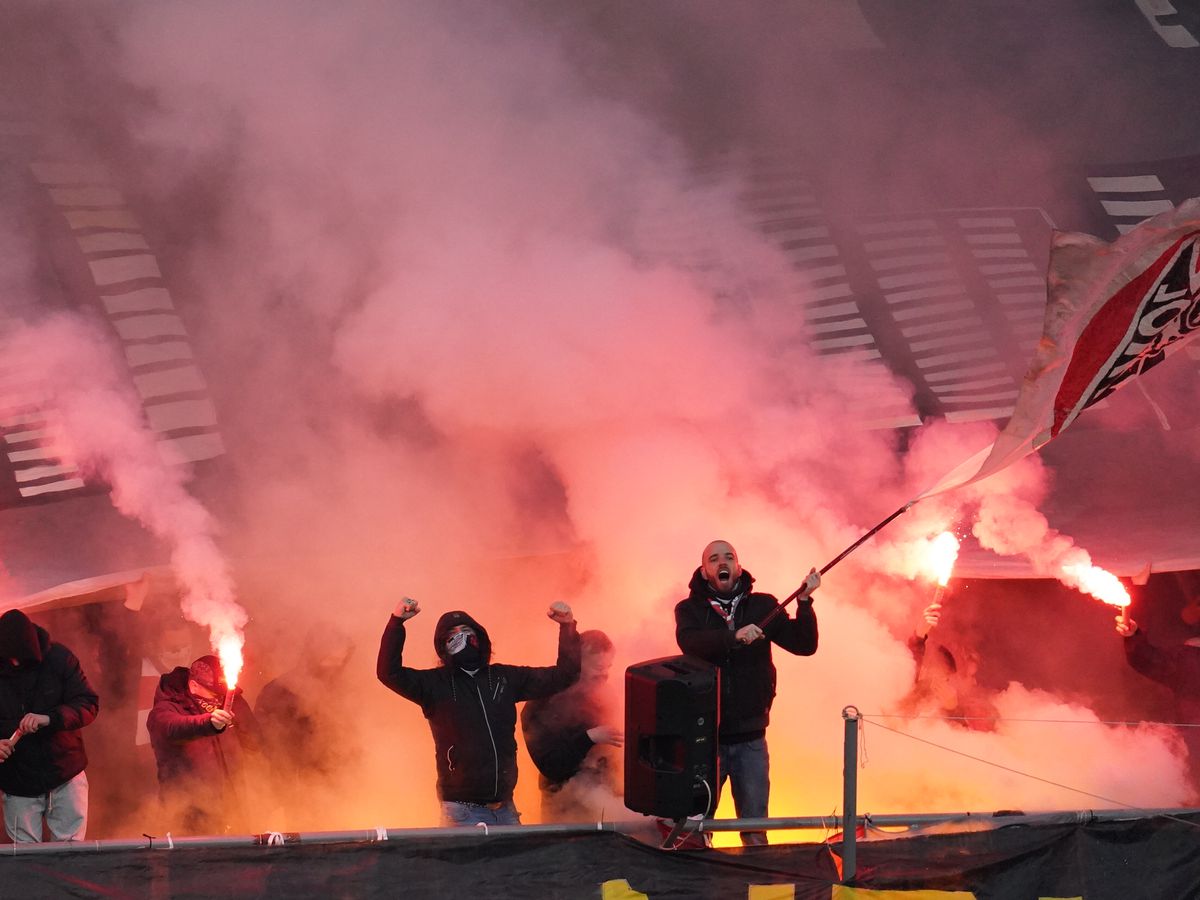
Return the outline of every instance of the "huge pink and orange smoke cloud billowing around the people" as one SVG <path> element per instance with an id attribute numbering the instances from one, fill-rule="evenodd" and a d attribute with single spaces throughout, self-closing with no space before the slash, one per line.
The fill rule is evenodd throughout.
<path id="1" fill-rule="evenodd" d="M 670 8 L 703 59 L 724 20 Z M 211 625 L 202 604 L 229 611 L 238 586 L 250 618 L 226 622 L 245 626 L 251 692 L 306 666 L 314 625 L 355 644 L 337 679 L 305 682 L 314 740 L 341 761 L 337 791 L 313 779 L 313 796 L 337 800 L 275 810 L 286 821 L 263 828 L 436 821 L 427 726 L 373 676 L 400 596 L 428 611 L 409 623 L 408 665 L 436 665 L 432 623 L 450 608 L 487 626 L 498 660 L 548 665 L 557 599 L 613 637 L 618 668 L 673 655 L 672 607 L 709 540 L 732 541 L 758 588 L 784 595 L 994 436 L 937 426 L 901 445 L 853 420 L 864 374 L 894 403 L 910 391 L 877 362 L 808 348 L 808 286 L 745 209 L 737 104 L 698 139 L 695 109 L 667 112 L 684 62 L 649 64 L 632 40 L 618 53 L 604 22 L 593 34 L 538 4 L 158 2 L 97 7 L 102 37 L 84 38 L 61 7 L 30 16 L 84 54 L 67 67 L 83 96 L 59 98 L 48 146 L 114 160 L 181 286 L 229 450 L 208 487 L 221 534 L 130 420 L 89 330 L 53 319 L 19 342 L 86 388 L 60 396 L 80 422 L 62 452 L 98 460 L 113 503 L 172 545 L 190 617 Z M 734 43 L 762 34 L 734 24 Z M 854 34 L 870 46 L 869 29 Z M 752 89 L 752 71 L 731 83 Z M 748 104 L 754 128 L 772 88 Z M 1076 558 L 1037 511 L 1046 479 L 1027 460 L 918 504 L 827 576 L 820 652 L 776 654 L 773 814 L 836 805 L 842 707 L 887 713 L 910 690 L 905 638 L 932 594 L 932 536 L 972 532 L 1048 574 Z M 1162 730 L 1099 725 L 1021 684 L 996 704 L 1014 720 L 1096 720 L 1094 762 L 1067 764 L 1054 750 L 1075 732 L 1038 731 L 1050 726 L 905 727 L 1102 797 L 1186 793 Z M 1079 803 L 869 739 L 864 790 L 889 811 Z M 518 806 L 535 821 L 521 767 Z"/>

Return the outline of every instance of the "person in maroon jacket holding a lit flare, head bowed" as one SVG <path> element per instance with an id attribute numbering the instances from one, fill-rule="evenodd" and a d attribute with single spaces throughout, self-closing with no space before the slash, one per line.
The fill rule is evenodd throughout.
<path id="1" fill-rule="evenodd" d="M 226 690 L 216 656 L 200 656 L 158 679 L 146 728 L 160 797 L 173 829 L 181 833 L 244 827 L 242 757 L 258 749 L 258 726 L 241 694 L 232 709 L 222 708 Z"/>

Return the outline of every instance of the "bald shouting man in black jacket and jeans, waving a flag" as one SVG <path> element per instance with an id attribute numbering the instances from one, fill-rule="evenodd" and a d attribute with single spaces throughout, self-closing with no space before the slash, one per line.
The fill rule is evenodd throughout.
<path id="1" fill-rule="evenodd" d="M 775 664 L 770 644 L 811 656 L 817 649 L 817 617 L 812 592 L 821 576 L 812 570 L 796 605 L 796 618 L 763 619 L 779 606 L 770 594 L 752 592 L 754 576 L 738 564 L 728 541 L 713 541 L 701 556 L 689 595 L 676 605 L 679 649 L 721 670 L 721 714 L 718 726 L 720 787 L 730 779 L 740 818 L 767 815 L 770 757 L 767 724 L 775 700 Z M 714 804 L 715 805 L 715 804 Z M 766 844 L 763 832 L 743 832 L 743 844 Z"/>

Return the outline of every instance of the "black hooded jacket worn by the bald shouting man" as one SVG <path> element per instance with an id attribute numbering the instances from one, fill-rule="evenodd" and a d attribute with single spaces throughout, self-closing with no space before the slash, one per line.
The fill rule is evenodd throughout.
<path id="1" fill-rule="evenodd" d="M 761 624 L 779 606 L 770 594 L 751 592 L 754 576 L 742 570 L 731 595 L 742 595 L 733 611 L 733 628 L 713 608 L 716 594 L 701 569 L 688 584 L 691 592 L 676 605 L 676 641 L 689 656 L 698 656 L 721 670 L 721 743 L 754 740 L 766 733 L 770 704 L 775 700 L 775 664 L 770 644 L 788 653 L 811 656 L 817 649 L 817 617 L 812 599 L 797 604 L 796 618 L 781 613 L 766 628 L 766 640 L 738 643 L 734 632 Z"/>

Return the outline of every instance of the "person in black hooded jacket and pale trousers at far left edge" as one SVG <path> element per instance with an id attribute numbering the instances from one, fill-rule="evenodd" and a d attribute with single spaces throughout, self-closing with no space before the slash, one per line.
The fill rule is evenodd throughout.
<path id="1" fill-rule="evenodd" d="M 71 650 L 19 610 L 0 616 L 0 793 L 13 841 L 41 841 L 43 823 L 53 840 L 83 840 L 88 754 L 79 730 L 98 710 Z"/>

